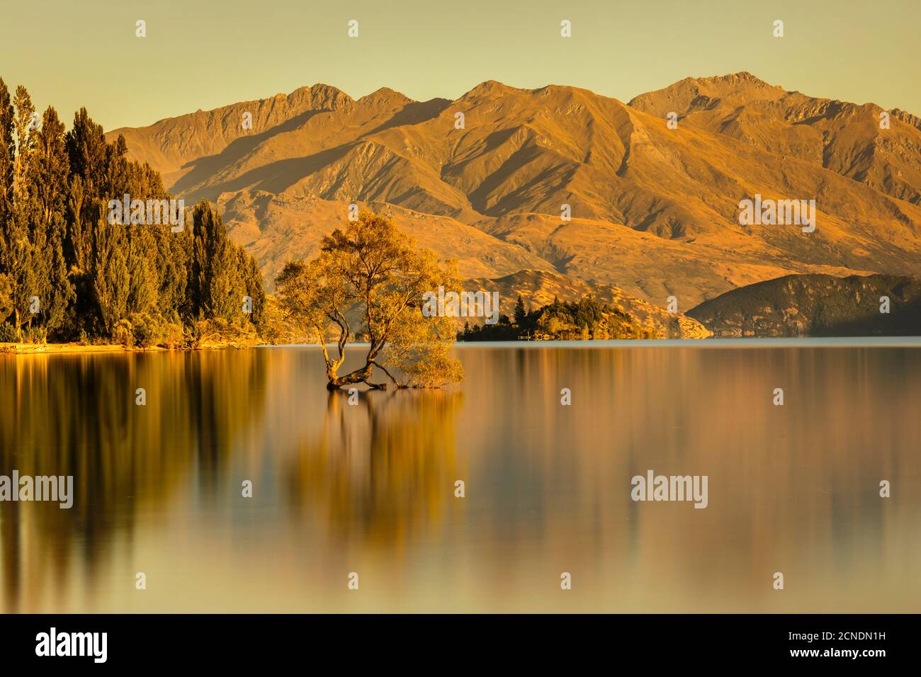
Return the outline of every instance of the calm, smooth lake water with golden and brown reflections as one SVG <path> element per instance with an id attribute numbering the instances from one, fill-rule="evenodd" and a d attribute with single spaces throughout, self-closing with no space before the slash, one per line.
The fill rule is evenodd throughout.
<path id="1" fill-rule="evenodd" d="M 356 406 L 309 347 L 0 356 L 0 474 L 76 484 L 0 503 L 0 610 L 916 612 L 921 346 L 747 345 L 460 346 Z"/>

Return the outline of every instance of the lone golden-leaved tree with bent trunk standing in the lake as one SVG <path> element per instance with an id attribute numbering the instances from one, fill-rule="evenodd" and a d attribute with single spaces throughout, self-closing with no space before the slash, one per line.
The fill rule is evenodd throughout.
<path id="1" fill-rule="evenodd" d="M 386 390 L 371 382 L 375 367 L 397 388 L 461 381 L 463 368 L 449 356 L 453 322 L 423 313 L 426 292 L 453 282 L 450 264 L 440 266 L 435 252 L 417 250 L 389 219 L 370 212 L 333 230 L 316 258 L 288 263 L 275 280 L 287 316 L 320 345 L 331 391 L 356 383 Z M 340 376 L 350 339 L 368 342 L 365 364 Z M 332 341 L 337 356 L 327 348 Z"/>

